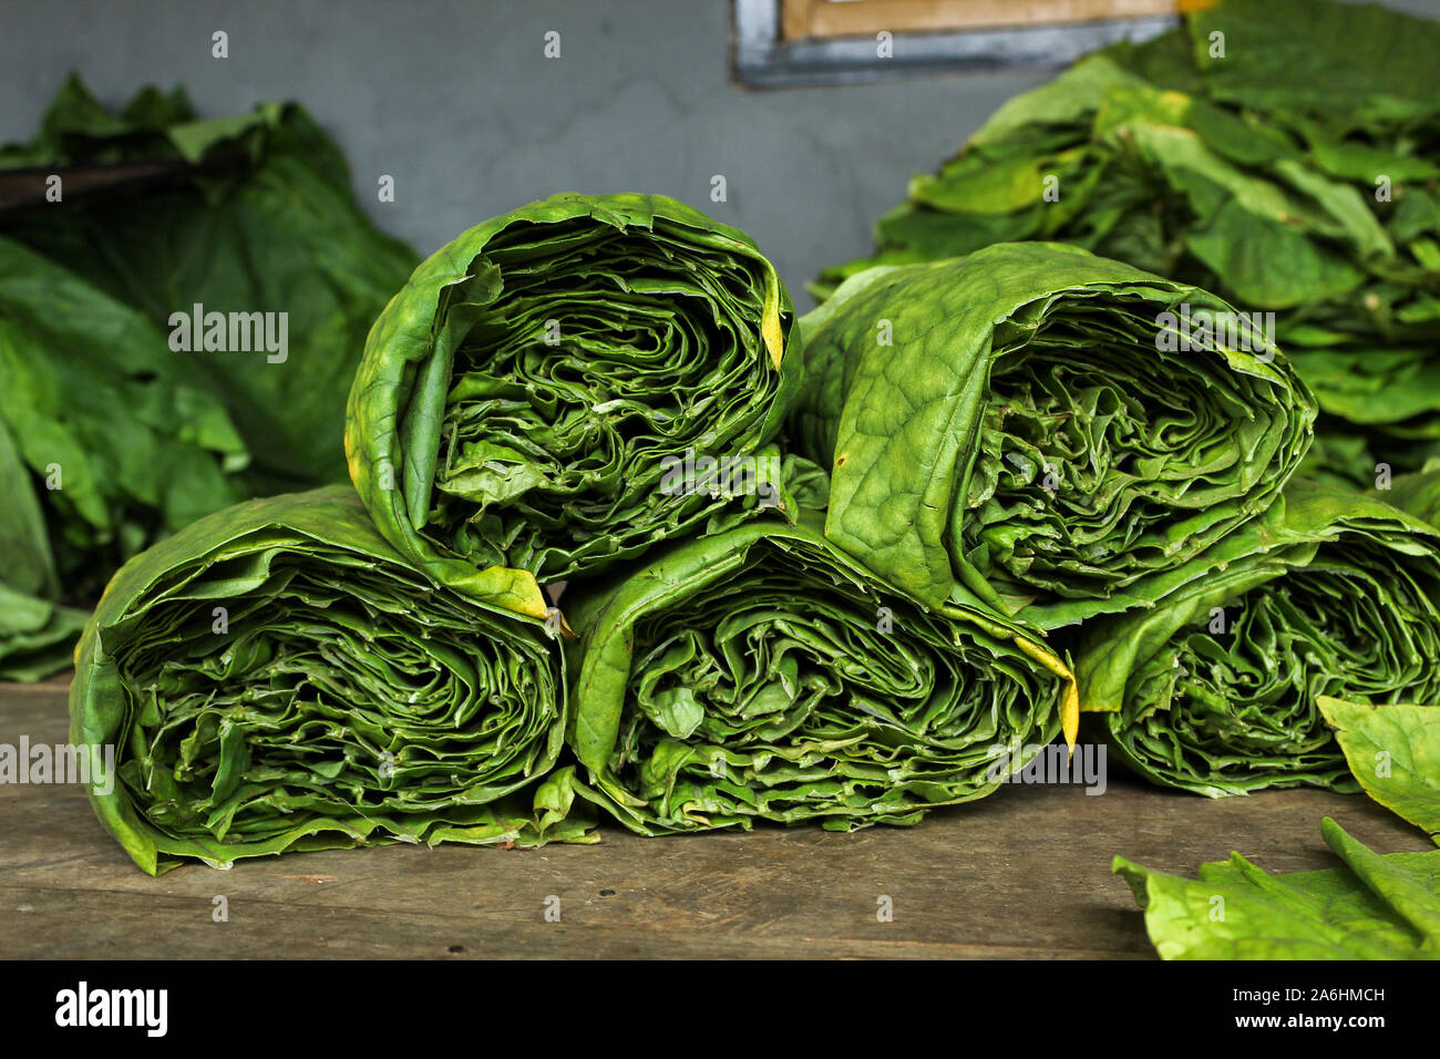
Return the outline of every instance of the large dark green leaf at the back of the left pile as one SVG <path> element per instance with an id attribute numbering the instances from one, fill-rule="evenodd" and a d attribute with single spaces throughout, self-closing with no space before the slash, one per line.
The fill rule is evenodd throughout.
<path id="1" fill-rule="evenodd" d="M 338 148 L 294 104 L 197 121 L 181 91 L 144 89 L 111 114 L 71 78 L 39 137 L 0 148 L 0 170 L 138 161 L 177 171 L 143 192 L 7 210 L 0 235 L 98 285 L 166 337 L 176 314 L 189 318 L 199 304 L 226 314 L 228 331 L 232 313 L 274 314 L 278 343 L 284 314 L 279 352 L 160 350 L 209 376 L 252 454 L 256 491 L 343 481 L 346 395 L 366 333 L 415 252 L 366 219 Z"/>

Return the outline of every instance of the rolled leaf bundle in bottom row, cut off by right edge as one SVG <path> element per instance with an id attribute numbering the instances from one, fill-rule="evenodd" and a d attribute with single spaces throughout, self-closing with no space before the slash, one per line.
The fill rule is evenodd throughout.
<path id="1" fill-rule="evenodd" d="M 1166 589 L 1086 625 L 1076 661 L 1081 707 L 1153 782 L 1351 791 L 1318 699 L 1440 699 L 1440 533 L 1380 500 L 1297 478 Z"/>

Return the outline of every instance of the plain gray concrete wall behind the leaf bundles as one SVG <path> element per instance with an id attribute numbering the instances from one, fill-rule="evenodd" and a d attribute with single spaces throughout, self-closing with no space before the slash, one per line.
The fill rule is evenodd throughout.
<path id="1" fill-rule="evenodd" d="M 1394 6 L 1440 17 L 1440 0 Z M 746 91 L 729 78 L 729 17 L 727 0 L 10 0 L 0 141 L 33 134 L 71 69 L 111 104 L 184 84 L 207 117 L 298 99 L 376 220 L 422 252 L 553 192 L 662 192 L 747 231 L 808 305 L 802 284 L 870 249 L 912 173 L 1050 76 Z M 543 56 L 549 30 L 560 59 Z M 376 200 L 382 173 L 395 203 Z"/>

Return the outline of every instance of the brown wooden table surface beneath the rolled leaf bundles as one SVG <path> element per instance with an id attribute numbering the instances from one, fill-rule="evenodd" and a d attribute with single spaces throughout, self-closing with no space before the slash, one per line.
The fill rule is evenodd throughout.
<path id="1" fill-rule="evenodd" d="M 66 684 L 0 684 L 0 743 L 66 738 Z M 389 846 L 186 866 L 151 879 L 73 785 L 0 785 L 0 957 L 1153 958 L 1120 853 L 1194 873 L 1231 849 L 1329 867 L 1320 817 L 1380 852 L 1430 849 L 1368 798 L 1211 801 L 1126 779 L 1005 787 L 919 827 L 770 827 L 598 846 Z M 225 896 L 228 922 L 215 922 Z M 560 899 L 560 922 L 544 918 Z M 878 899 L 893 921 L 877 918 Z"/>

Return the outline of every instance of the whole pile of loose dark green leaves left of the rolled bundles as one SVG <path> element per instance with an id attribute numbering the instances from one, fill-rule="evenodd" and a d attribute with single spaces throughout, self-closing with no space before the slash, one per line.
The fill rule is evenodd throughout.
<path id="1" fill-rule="evenodd" d="M 71 78 L 0 174 L 62 176 L 59 200 L 0 210 L 0 677 L 39 679 L 128 556 L 245 496 L 344 478 L 344 398 L 415 255 L 295 105 L 200 121 L 147 88 L 112 112 Z M 196 305 L 285 314 L 285 353 L 176 352 L 171 317 Z"/>

